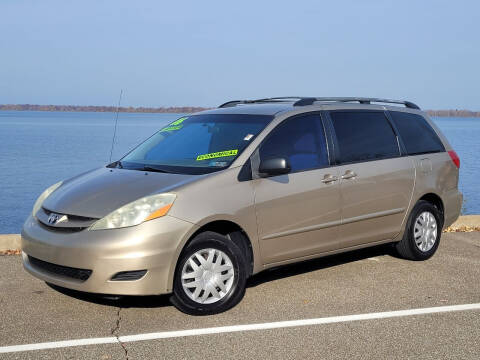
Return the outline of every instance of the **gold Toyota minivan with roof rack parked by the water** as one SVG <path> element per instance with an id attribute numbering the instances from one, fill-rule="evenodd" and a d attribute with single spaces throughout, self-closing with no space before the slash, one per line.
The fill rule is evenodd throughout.
<path id="1" fill-rule="evenodd" d="M 460 213 L 459 167 L 408 101 L 230 101 L 45 190 L 23 264 L 60 287 L 218 313 L 279 265 L 383 243 L 430 258 Z"/>

